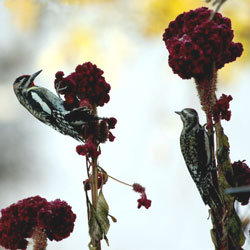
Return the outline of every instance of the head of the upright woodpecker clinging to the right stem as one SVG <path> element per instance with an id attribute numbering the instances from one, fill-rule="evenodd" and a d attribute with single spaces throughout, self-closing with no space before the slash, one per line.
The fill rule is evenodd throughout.
<path id="1" fill-rule="evenodd" d="M 194 109 L 186 108 L 182 111 L 175 111 L 175 113 L 180 115 L 185 129 L 191 129 L 199 124 L 199 117 Z"/>

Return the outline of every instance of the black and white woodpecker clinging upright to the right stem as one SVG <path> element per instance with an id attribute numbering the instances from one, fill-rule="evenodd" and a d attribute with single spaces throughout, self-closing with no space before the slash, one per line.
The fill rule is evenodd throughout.
<path id="1" fill-rule="evenodd" d="M 199 123 L 197 112 L 191 108 L 176 111 L 183 122 L 180 136 L 181 152 L 193 181 L 205 204 L 211 208 L 220 208 L 221 199 L 214 180 L 212 147 L 208 134 Z"/>

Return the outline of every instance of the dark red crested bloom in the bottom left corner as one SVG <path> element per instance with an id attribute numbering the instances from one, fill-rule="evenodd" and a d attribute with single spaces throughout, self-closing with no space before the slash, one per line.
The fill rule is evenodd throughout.
<path id="1" fill-rule="evenodd" d="M 29 197 L 1 210 L 0 245 L 6 249 L 26 249 L 27 238 L 39 226 L 50 240 L 62 240 L 73 231 L 75 214 L 66 202 L 48 202 Z M 60 205 L 59 205 L 60 203 Z"/>

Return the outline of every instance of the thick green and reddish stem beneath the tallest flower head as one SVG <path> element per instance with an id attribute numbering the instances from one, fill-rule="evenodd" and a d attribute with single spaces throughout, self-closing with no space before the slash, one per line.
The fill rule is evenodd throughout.
<path id="1" fill-rule="evenodd" d="M 215 93 L 217 82 L 216 70 L 212 69 L 210 74 L 206 77 L 195 79 L 195 82 L 202 109 L 205 111 L 207 117 L 208 134 L 213 154 L 213 167 L 216 167 L 217 162 L 218 176 L 213 171 L 213 181 L 222 200 L 221 208 L 211 208 L 210 210 L 213 223 L 211 237 L 216 250 L 238 250 L 244 244 L 241 222 L 234 210 L 234 199 L 224 192 L 226 188 L 230 187 L 226 176 L 228 173 L 232 175 L 229 143 L 220 122 L 215 125 L 212 122 L 213 107 L 217 100 Z M 216 135 L 216 154 L 214 131 Z"/>

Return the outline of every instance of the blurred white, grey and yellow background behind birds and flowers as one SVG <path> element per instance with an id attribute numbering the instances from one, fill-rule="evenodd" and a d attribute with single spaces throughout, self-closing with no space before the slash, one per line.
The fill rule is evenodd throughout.
<path id="1" fill-rule="evenodd" d="M 67 201 L 77 214 L 74 232 L 48 249 L 87 249 L 85 160 L 78 145 L 32 117 L 17 101 L 14 80 L 43 69 L 36 84 L 53 90 L 54 75 L 87 61 L 104 70 L 111 100 L 100 116 L 116 117 L 113 143 L 102 145 L 99 164 L 111 176 L 146 187 L 152 207 L 137 209 L 139 195 L 109 180 L 104 195 L 111 222 L 110 250 L 209 250 L 208 207 L 189 176 L 179 147 L 182 129 L 174 111 L 195 108 L 205 117 L 193 80 L 168 66 L 162 34 L 183 11 L 209 6 L 201 0 L 2 0 L 0 2 L 0 209 L 34 195 Z M 218 96 L 233 96 L 223 122 L 231 160 L 250 164 L 250 2 L 227 1 L 235 42 L 243 55 L 219 71 Z M 238 207 L 242 219 L 250 207 Z M 247 235 L 249 244 L 249 234 Z"/>

